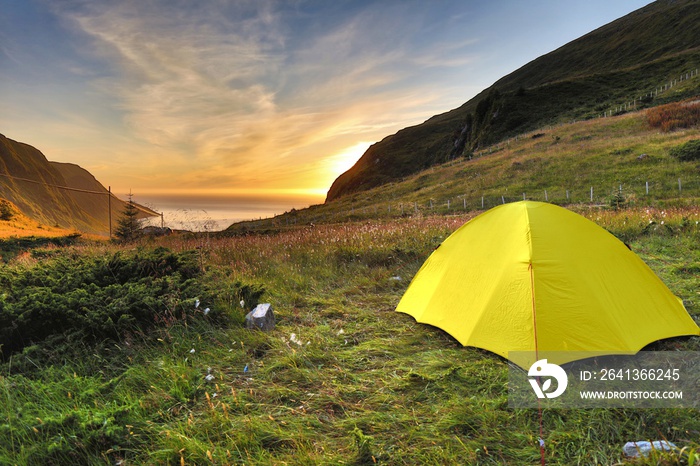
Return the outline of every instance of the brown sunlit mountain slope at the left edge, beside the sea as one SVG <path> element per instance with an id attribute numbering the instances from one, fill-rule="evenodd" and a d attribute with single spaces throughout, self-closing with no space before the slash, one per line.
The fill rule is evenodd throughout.
<path id="1" fill-rule="evenodd" d="M 50 162 L 35 147 L 2 134 L 0 198 L 47 226 L 102 235 L 109 232 L 109 192 L 92 174 L 75 164 Z M 113 228 L 125 205 L 112 195 Z M 143 206 L 139 209 L 143 216 L 157 215 Z"/>

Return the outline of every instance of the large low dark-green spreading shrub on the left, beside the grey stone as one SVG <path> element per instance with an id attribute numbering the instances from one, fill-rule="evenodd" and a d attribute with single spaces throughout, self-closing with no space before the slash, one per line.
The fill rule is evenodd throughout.
<path id="1" fill-rule="evenodd" d="M 205 304 L 218 300 L 208 282 L 195 254 L 165 248 L 102 257 L 63 255 L 34 267 L 5 269 L 0 273 L 0 354 L 31 345 L 61 349 L 76 342 L 120 342 L 199 318 L 205 306 L 195 304 L 197 298 Z M 232 286 L 239 295 L 250 292 L 244 284 Z M 223 317 L 216 312 L 208 319 Z"/>

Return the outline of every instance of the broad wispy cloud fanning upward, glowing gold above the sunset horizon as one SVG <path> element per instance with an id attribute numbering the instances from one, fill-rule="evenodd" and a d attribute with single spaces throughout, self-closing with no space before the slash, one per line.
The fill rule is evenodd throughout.
<path id="1" fill-rule="evenodd" d="M 435 56 L 422 2 L 59 5 L 105 64 L 91 85 L 132 138 L 121 157 L 152 173 L 135 180 L 183 188 L 330 184 L 325 157 L 444 111 L 451 90 L 420 71 L 470 44 Z"/>

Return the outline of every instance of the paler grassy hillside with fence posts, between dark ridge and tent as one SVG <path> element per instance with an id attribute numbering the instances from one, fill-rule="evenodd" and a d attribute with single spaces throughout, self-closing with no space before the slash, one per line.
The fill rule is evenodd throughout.
<path id="1" fill-rule="evenodd" d="M 620 201 L 629 206 L 697 205 L 698 161 L 679 160 L 671 152 L 700 138 L 700 120 L 692 120 L 700 113 L 700 104 L 692 100 L 680 106 L 691 118 L 687 128 L 664 131 L 650 123 L 650 117 L 676 107 L 543 127 L 488 146 L 471 159 L 435 165 L 401 181 L 271 219 L 237 223 L 228 232 L 457 214 L 519 200 L 523 195 L 565 205 L 611 206 Z M 662 120 L 674 118 L 666 115 Z"/>

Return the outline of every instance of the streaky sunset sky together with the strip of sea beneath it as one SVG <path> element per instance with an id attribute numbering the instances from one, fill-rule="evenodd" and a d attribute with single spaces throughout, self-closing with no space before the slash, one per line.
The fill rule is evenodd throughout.
<path id="1" fill-rule="evenodd" d="M 648 3 L 0 0 L 0 133 L 159 211 L 271 216 Z"/>

